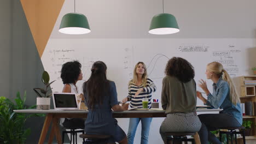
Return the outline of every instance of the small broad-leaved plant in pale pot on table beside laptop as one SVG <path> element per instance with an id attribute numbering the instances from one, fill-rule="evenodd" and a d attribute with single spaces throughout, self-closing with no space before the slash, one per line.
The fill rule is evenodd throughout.
<path id="1" fill-rule="evenodd" d="M 50 76 L 47 71 L 44 71 L 42 74 L 42 82 L 45 85 L 45 88 L 33 88 L 34 92 L 38 95 L 37 97 L 37 109 L 38 110 L 49 110 L 50 109 L 50 97 L 52 93 L 50 92 L 50 85 L 54 81 L 50 82 Z"/>

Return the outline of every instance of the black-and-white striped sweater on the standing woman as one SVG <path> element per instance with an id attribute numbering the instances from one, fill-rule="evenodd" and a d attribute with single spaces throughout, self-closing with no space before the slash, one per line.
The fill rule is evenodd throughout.
<path id="1" fill-rule="evenodd" d="M 139 88 L 143 88 L 143 91 L 137 95 L 137 97 L 134 97 L 135 93 L 138 91 Z M 154 82 L 150 79 L 147 79 L 147 86 L 143 87 L 142 85 L 137 86 L 134 83 L 130 84 L 128 87 L 129 95 L 127 96 L 128 101 L 131 101 L 130 106 L 131 107 L 138 107 L 142 108 L 142 99 L 148 98 L 148 108 L 151 108 L 151 98 L 152 98 L 152 92 L 156 91 L 156 86 Z"/>

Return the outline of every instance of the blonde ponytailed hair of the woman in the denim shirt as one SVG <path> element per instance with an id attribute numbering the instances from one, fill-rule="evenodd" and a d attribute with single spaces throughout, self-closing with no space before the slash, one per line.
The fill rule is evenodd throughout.
<path id="1" fill-rule="evenodd" d="M 235 84 L 232 81 L 232 79 L 230 78 L 228 72 L 225 69 L 223 69 L 223 65 L 218 62 L 211 62 L 211 63 L 207 64 L 207 70 L 213 72 L 214 74 L 216 74 L 219 77 L 222 77 L 223 80 L 228 82 L 229 88 L 230 88 L 229 98 L 230 98 L 232 104 L 236 105 L 237 103 L 240 103 L 240 98 L 238 97 L 238 94 L 237 94 L 237 91 L 235 88 Z"/>

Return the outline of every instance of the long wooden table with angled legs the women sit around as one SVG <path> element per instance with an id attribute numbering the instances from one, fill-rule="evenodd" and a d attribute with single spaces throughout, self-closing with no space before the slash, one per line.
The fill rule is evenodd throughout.
<path id="1" fill-rule="evenodd" d="M 222 109 L 197 109 L 197 112 L 213 112 L 222 111 Z M 38 141 L 39 144 L 43 144 L 45 136 L 49 130 L 50 123 L 53 122 L 50 129 L 50 136 L 48 143 L 52 143 L 54 136 L 56 136 L 57 142 L 62 143 L 61 133 L 59 129 L 59 119 L 66 118 L 86 118 L 88 111 L 59 111 L 59 110 L 37 110 L 37 109 L 26 109 L 26 110 L 14 110 L 18 113 L 46 113 L 44 120 L 43 129 Z M 114 118 L 142 118 L 142 117 L 166 117 L 164 110 L 148 110 L 148 111 L 123 111 L 113 112 Z M 197 137 L 197 136 L 196 136 Z M 199 139 L 199 138 L 198 138 Z M 196 140 L 196 143 L 200 143 L 200 140 Z"/>

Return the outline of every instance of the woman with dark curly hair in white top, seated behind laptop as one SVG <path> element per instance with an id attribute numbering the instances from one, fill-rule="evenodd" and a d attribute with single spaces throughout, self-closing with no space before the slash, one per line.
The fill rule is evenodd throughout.
<path id="1" fill-rule="evenodd" d="M 80 97 L 78 88 L 75 85 L 77 81 L 83 79 L 81 64 L 78 61 L 67 62 L 62 65 L 61 79 L 64 84 L 63 93 L 75 93 L 77 97 Z M 65 118 L 65 120 L 62 118 L 61 123 L 65 128 L 84 129 L 83 118 Z"/>

